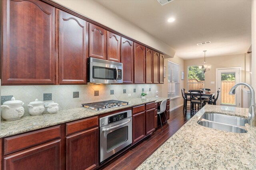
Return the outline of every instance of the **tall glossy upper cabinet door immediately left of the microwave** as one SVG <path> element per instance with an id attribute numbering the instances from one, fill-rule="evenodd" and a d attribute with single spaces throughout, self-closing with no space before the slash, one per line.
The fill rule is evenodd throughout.
<path id="1" fill-rule="evenodd" d="M 88 23 L 60 11 L 59 83 L 86 84 Z"/>

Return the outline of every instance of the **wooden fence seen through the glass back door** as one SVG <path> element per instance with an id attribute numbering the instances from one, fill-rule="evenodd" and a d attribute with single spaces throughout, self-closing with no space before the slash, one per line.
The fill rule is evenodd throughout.
<path id="1" fill-rule="evenodd" d="M 235 95 L 229 95 L 229 91 L 234 86 L 235 80 L 221 81 L 221 103 L 222 104 L 235 104 Z"/>

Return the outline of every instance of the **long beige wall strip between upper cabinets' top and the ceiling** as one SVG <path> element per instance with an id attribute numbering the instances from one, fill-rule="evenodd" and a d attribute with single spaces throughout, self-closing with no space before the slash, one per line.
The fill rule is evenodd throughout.
<path id="1" fill-rule="evenodd" d="M 128 37 L 131 37 L 141 43 L 144 43 L 154 49 L 166 53 L 170 57 L 174 57 L 175 50 L 160 41 L 156 37 L 146 33 L 141 28 L 130 23 L 127 20 L 117 16 L 98 2 L 94 0 L 53 0 L 58 4 L 65 6 L 75 12 L 78 12 L 94 21 L 97 21 L 115 31 L 118 31 Z M 166 56 L 168 57 L 168 56 Z"/>

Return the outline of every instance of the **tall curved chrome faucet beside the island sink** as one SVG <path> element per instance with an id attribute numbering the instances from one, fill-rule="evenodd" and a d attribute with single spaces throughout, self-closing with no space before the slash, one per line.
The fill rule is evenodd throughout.
<path id="1" fill-rule="evenodd" d="M 251 92 L 251 103 L 250 103 L 250 107 L 249 107 L 249 111 L 248 111 L 248 124 L 251 127 L 256 127 L 256 116 L 255 116 L 255 92 L 254 89 L 252 88 L 252 86 L 250 86 L 250 84 L 247 83 L 237 83 L 235 84 L 231 89 L 229 94 L 230 95 L 234 95 L 236 93 L 236 88 L 239 85 L 244 85 L 246 87 L 249 88 L 250 92 Z"/>

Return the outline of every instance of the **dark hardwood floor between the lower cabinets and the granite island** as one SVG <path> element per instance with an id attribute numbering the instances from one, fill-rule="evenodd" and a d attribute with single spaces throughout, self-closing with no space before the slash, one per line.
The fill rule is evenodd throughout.
<path id="1" fill-rule="evenodd" d="M 176 131 L 180 129 L 193 115 L 190 115 L 190 110 L 185 115 L 182 112 L 182 107 L 179 107 L 170 112 L 168 125 L 158 126 L 156 131 L 147 139 L 127 150 L 122 156 L 118 156 L 104 167 L 103 170 L 134 170 L 144 160 L 146 160 L 156 149 L 158 149 L 167 139 L 169 139 Z"/>

